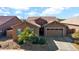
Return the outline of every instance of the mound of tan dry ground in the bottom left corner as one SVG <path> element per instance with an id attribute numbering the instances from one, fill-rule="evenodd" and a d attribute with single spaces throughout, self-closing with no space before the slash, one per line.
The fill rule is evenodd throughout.
<path id="1" fill-rule="evenodd" d="M 20 46 L 13 40 L 7 40 L 0 43 L 0 49 L 20 49 Z"/>

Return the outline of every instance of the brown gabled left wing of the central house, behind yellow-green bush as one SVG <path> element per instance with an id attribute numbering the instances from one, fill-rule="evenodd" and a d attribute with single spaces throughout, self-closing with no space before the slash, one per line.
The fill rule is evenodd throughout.
<path id="1" fill-rule="evenodd" d="M 17 40 L 18 34 L 19 34 L 18 32 L 22 32 L 26 27 L 29 27 L 31 29 L 34 29 L 34 32 L 35 33 L 37 33 L 37 31 L 39 30 L 39 28 L 36 25 L 31 24 L 31 23 L 29 23 L 29 22 L 27 22 L 25 20 L 25 21 L 23 21 L 20 24 L 16 24 L 16 25 L 11 26 L 11 28 L 12 28 L 12 38 L 14 40 Z"/>

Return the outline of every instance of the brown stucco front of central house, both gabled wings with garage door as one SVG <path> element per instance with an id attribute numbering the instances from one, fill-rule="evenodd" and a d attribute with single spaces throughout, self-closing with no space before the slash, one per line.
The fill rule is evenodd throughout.
<path id="1" fill-rule="evenodd" d="M 41 20 L 42 21 L 42 20 Z M 24 28 L 29 27 L 34 33 L 39 36 L 41 26 L 37 26 L 35 23 L 31 22 L 22 22 L 12 26 L 12 37 L 17 40 L 18 36 L 16 34 L 17 29 L 21 29 L 23 31 Z M 66 36 L 68 27 L 65 24 L 60 23 L 59 21 L 51 21 L 50 23 L 44 24 L 44 36 Z M 48 30 L 50 29 L 50 30 Z M 51 30 L 53 29 L 53 30 Z"/>

